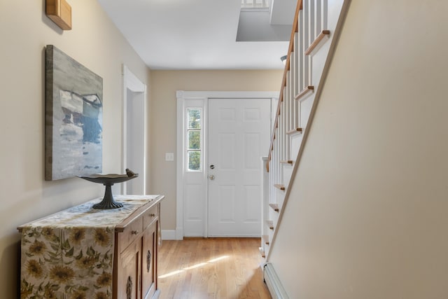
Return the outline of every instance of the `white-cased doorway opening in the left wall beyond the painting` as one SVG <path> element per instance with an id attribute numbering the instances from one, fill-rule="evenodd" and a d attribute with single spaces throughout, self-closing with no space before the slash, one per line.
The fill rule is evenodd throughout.
<path id="1" fill-rule="evenodd" d="M 123 65 L 123 172 L 139 174 L 121 184 L 122 194 L 146 194 L 146 85 Z"/>

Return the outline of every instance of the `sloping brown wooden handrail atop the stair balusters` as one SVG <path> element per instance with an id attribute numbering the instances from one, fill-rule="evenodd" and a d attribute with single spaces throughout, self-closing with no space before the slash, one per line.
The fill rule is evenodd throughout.
<path id="1" fill-rule="evenodd" d="M 283 79 L 281 80 L 279 104 L 277 105 L 277 111 L 275 113 L 274 130 L 276 130 L 276 128 L 279 127 L 280 107 L 281 107 L 281 102 L 283 102 L 283 87 L 286 86 L 286 74 L 288 74 L 289 60 L 290 60 L 291 52 L 293 52 L 293 50 L 294 50 L 294 34 L 299 31 L 298 21 L 299 21 L 299 11 L 301 11 L 301 10 L 302 10 L 302 0 L 297 0 L 297 6 L 295 8 L 295 16 L 294 16 L 294 21 L 293 21 L 293 29 L 291 30 L 291 37 L 289 39 L 288 55 L 286 56 L 286 65 L 285 65 L 285 69 L 283 70 Z M 267 162 L 266 162 L 267 172 L 269 172 L 269 162 L 272 159 L 272 150 L 274 149 L 274 138 L 273 137 L 274 137 L 274 134 L 272 134 L 271 145 L 269 146 L 269 154 L 267 155 Z"/>

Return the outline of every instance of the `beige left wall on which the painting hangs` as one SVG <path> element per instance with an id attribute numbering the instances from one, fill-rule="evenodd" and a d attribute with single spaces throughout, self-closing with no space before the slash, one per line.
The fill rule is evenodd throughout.
<path id="1" fill-rule="evenodd" d="M 43 13 L 45 1 L 0 0 L 0 298 L 15 298 L 18 225 L 103 194 L 81 179 L 44 181 L 44 48 L 55 45 L 104 81 L 104 172 L 121 172 L 121 66 L 149 70 L 92 0 L 69 1 L 73 29 Z"/>

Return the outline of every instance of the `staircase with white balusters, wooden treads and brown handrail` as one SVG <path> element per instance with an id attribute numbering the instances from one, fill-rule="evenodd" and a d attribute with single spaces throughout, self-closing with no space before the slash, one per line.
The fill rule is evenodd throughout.
<path id="1" fill-rule="evenodd" d="M 288 186 L 307 139 L 348 0 L 298 0 L 269 155 L 265 161 L 260 253 L 269 262 Z"/>

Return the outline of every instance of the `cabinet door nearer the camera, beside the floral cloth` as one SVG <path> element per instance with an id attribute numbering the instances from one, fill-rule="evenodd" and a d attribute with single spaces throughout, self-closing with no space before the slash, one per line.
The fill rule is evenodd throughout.
<path id="1" fill-rule="evenodd" d="M 118 279 L 118 298 L 141 299 L 140 296 L 140 263 L 141 238 L 136 239 L 123 253 L 121 253 L 122 273 Z"/>

